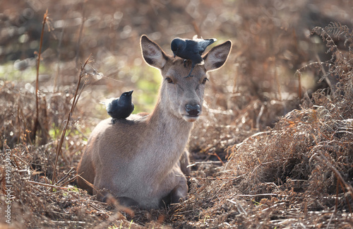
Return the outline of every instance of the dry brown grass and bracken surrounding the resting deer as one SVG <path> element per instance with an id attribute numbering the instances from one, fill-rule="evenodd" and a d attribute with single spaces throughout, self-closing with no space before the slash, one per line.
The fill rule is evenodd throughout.
<path id="1" fill-rule="evenodd" d="M 1 23 L 25 31 L 0 38 L 0 46 L 8 46 L 0 52 L 5 66 L 32 57 L 31 42 L 40 47 L 40 29 L 34 28 L 42 27 L 43 14 L 4 4 Z M 38 112 L 35 77 L 25 78 L 34 68 L 30 60 L 0 79 L 0 159 L 6 162 L 11 152 L 13 195 L 11 225 L 0 213 L 0 227 L 352 228 L 353 36 L 352 25 L 342 25 L 349 25 L 351 7 L 335 1 L 343 13 L 334 15 L 332 2 L 263 4 L 112 1 L 99 10 L 85 1 L 50 5 L 54 31 L 43 35 Z M 29 19 L 20 23 L 16 16 Z M 148 111 L 153 104 L 159 76 L 141 62 L 138 37 L 148 34 L 169 50 L 173 37 L 194 33 L 230 38 L 234 47 L 225 66 L 210 73 L 205 113 L 189 142 L 189 199 L 166 209 L 130 211 L 76 188 L 74 168 L 90 130 L 106 117 L 99 101 L 133 88 L 136 107 Z M 76 100 L 83 86 L 76 62 L 90 53 L 95 63 L 81 69 L 87 84 Z M 41 129 L 32 139 L 36 116 Z M 6 166 L 0 164 L 1 212 L 7 208 Z"/>

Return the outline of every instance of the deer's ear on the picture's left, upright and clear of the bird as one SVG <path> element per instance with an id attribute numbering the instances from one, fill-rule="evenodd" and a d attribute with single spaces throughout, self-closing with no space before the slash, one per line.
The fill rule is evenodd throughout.
<path id="1" fill-rule="evenodd" d="M 157 69 L 162 69 L 162 67 L 167 63 L 168 57 L 160 46 L 155 42 L 152 42 L 152 40 L 150 40 L 146 35 L 141 36 L 140 44 L 142 56 L 146 63 Z"/>

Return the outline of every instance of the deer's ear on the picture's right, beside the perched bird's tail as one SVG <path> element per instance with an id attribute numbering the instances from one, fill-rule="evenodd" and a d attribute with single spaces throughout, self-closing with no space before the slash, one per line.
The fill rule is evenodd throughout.
<path id="1" fill-rule="evenodd" d="M 232 42 L 230 40 L 210 49 L 210 52 L 203 57 L 206 71 L 213 71 L 223 66 L 225 61 L 227 61 L 230 49 L 232 49 Z"/>

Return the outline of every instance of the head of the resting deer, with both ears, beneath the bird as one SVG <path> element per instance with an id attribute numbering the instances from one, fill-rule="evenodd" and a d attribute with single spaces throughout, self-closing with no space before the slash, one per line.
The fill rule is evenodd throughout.
<path id="1" fill-rule="evenodd" d="M 195 122 L 202 114 L 205 83 L 208 71 L 219 69 L 229 55 L 229 40 L 210 49 L 203 63 L 195 66 L 193 77 L 185 78 L 191 70 L 191 61 L 167 55 L 159 45 L 143 35 L 140 40 L 143 58 L 150 66 L 160 69 L 163 81 L 158 104 L 164 112 L 186 122 Z"/>

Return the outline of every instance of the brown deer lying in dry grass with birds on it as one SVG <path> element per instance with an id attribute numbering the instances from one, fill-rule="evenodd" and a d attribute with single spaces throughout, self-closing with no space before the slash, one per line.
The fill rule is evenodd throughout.
<path id="1" fill-rule="evenodd" d="M 167 55 L 155 42 L 140 39 L 143 59 L 160 69 L 163 81 L 157 104 L 151 114 L 132 114 L 112 124 L 111 118 L 92 131 L 78 164 L 78 174 L 106 189 L 121 204 L 142 209 L 176 203 L 186 198 L 188 186 L 184 173 L 189 165 L 187 151 L 190 131 L 202 113 L 203 93 L 208 71 L 219 69 L 229 55 L 229 40 L 210 49 L 204 64 L 188 76 L 190 61 Z M 78 179 L 78 186 L 104 200 L 107 192 L 92 189 Z"/>

